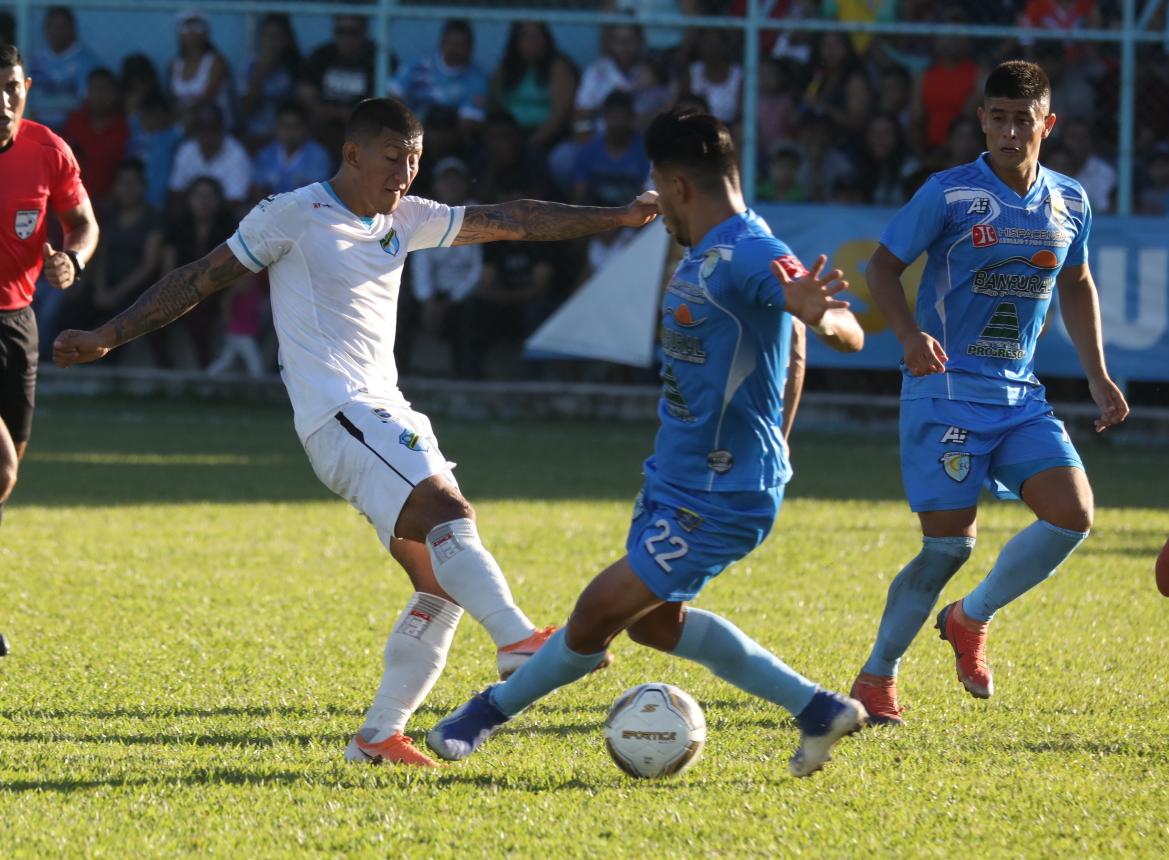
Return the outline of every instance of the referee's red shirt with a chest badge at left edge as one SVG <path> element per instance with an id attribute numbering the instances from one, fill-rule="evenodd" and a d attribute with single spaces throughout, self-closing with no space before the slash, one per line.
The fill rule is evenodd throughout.
<path id="1" fill-rule="evenodd" d="M 49 210 L 75 209 L 85 197 L 69 144 L 40 123 L 21 120 L 16 139 L 0 152 L 0 311 L 33 301 Z"/>

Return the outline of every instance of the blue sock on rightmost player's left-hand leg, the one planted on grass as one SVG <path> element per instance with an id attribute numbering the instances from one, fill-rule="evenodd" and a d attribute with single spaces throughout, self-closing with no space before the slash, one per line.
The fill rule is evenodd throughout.
<path id="1" fill-rule="evenodd" d="M 877 629 L 877 641 L 864 671 L 874 675 L 895 675 L 901 654 L 926 623 L 938 595 L 966 563 L 974 549 L 974 538 L 924 538 L 921 552 L 901 568 L 888 585 L 885 612 Z"/>

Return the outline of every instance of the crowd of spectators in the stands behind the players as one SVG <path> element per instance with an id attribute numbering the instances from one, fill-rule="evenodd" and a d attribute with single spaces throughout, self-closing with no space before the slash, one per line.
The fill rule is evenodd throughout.
<path id="1" fill-rule="evenodd" d="M 983 148 L 975 120 L 981 82 L 1008 57 L 1049 71 L 1060 116 L 1044 160 L 1077 176 L 1098 213 L 1115 204 L 1115 46 L 1030 39 L 1036 28 L 1111 27 L 1119 2 L 987 0 L 978 23 L 1019 37 L 971 41 L 774 29 L 761 37 L 755 92 L 745 92 L 734 28 L 643 28 L 646 13 L 742 15 L 746 0 L 610 0 L 628 23 L 597 28 L 583 68 L 537 21 L 510 27 L 493 69 L 475 57 L 475 27 L 447 21 L 438 44 L 393 57 L 375 79 L 368 19 L 339 14 L 332 37 L 302 53 L 290 19 L 256 22 L 245 57 L 216 48 L 198 11 L 177 21 L 165 68 L 144 54 L 102 67 L 68 7 L 44 19 L 44 48 L 28 57 L 29 116 L 74 147 L 99 213 L 103 240 L 83 287 L 41 291 L 42 325 L 85 325 L 126 306 L 162 271 L 230 235 L 260 197 L 327 179 L 344 120 L 375 95 L 404 99 L 424 120 L 426 160 L 415 193 L 449 203 L 521 196 L 622 204 L 645 187 L 641 134 L 671 105 L 693 104 L 741 134 L 743 104 L 758 117 L 762 202 L 899 206 L 933 171 Z M 970 22 L 969 5 L 926 0 L 777 0 L 775 20 Z M 1169 63 L 1141 62 L 1135 206 L 1169 213 Z M 628 237 L 555 249 L 538 243 L 419 254 L 407 268 L 399 345 L 409 369 L 419 334 L 449 344 L 445 372 L 478 377 L 499 340 L 518 342 Z M 275 368 L 263 276 L 205 303 L 150 341 L 150 359 L 213 372 Z M 165 335 L 165 337 L 164 337 Z M 177 345 L 175 338 L 184 344 Z M 177 351 L 178 347 L 178 351 Z M 178 353 L 178 354 L 177 354 Z M 538 372 L 537 366 L 528 366 Z M 535 370 L 532 370 L 535 368 Z"/>

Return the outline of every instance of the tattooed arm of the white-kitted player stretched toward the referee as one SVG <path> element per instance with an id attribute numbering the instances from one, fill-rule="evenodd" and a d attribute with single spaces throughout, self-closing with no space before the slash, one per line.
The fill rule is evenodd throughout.
<path id="1" fill-rule="evenodd" d="M 92 332 L 68 330 L 53 342 L 53 360 L 61 367 L 97 361 L 111 349 L 173 322 L 248 269 L 226 244 L 202 259 L 179 266 L 138 297 L 138 300 Z"/>

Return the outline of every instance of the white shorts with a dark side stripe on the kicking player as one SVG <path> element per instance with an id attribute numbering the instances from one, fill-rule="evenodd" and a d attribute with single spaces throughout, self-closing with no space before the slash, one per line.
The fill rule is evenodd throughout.
<path id="1" fill-rule="evenodd" d="M 304 450 L 321 483 L 365 514 L 387 547 L 414 487 L 433 474 L 458 486 L 430 419 L 409 409 L 348 403 Z"/>

